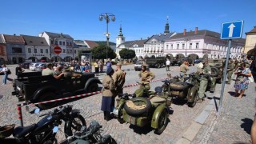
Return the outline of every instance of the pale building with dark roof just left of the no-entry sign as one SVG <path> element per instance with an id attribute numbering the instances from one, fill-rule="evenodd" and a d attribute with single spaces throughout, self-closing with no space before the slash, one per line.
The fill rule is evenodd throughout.
<path id="1" fill-rule="evenodd" d="M 32 62 L 50 61 L 50 46 L 46 38 L 22 35 L 25 40 L 26 59 L 32 59 Z"/>

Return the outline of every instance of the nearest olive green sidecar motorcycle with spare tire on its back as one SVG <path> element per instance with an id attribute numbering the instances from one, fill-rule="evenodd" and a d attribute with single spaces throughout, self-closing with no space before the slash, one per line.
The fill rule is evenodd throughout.
<path id="1" fill-rule="evenodd" d="M 119 101 L 118 118 L 135 126 L 150 124 L 155 134 L 162 134 L 166 129 L 171 98 L 162 93 L 162 87 L 156 87 L 156 94 L 149 98 L 136 97 Z M 121 113 L 121 114 L 120 114 Z"/>

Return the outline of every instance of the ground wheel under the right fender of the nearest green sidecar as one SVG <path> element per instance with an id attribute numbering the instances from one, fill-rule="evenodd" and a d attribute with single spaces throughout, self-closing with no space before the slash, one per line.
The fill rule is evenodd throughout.
<path id="1" fill-rule="evenodd" d="M 167 126 L 167 110 L 162 110 L 159 118 L 158 118 L 158 128 L 154 130 L 154 134 L 162 134 L 162 132 L 166 129 Z"/>

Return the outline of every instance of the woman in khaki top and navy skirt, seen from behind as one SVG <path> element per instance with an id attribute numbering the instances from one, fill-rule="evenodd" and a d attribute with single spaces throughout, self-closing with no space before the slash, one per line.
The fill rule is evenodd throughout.
<path id="1" fill-rule="evenodd" d="M 114 86 L 114 80 L 112 75 L 114 70 L 107 69 L 106 75 L 102 80 L 102 108 L 104 113 L 104 119 L 110 120 L 110 112 L 114 109 L 114 94 L 116 93 L 116 87 Z"/>

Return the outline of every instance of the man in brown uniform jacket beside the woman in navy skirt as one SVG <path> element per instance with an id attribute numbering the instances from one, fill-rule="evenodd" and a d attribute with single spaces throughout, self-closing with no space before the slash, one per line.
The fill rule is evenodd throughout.
<path id="1" fill-rule="evenodd" d="M 126 72 L 121 70 L 122 63 L 118 62 L 116 65 L 116 70 L 114 71 L 114 74 L 112 76 L 114 80 L 114 86 L 117 87 L 117 94 L 122 94 L 122 87 L 124 83 L 126 82 Z M 116 95 L 115 95 L 116 96 Z"/>

